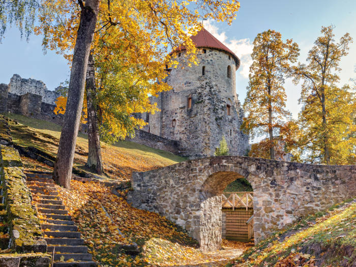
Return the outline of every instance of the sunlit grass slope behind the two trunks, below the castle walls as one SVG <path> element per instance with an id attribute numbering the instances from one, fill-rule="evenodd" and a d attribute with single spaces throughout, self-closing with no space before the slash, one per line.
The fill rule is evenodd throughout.
<path id="1" fill-rule="evenodd" d="M 7 114 L 12 120 L 11 135 L 16 144 L 34 146 L 55 156 L 61 136 L 61 127 L 43 120 L 18 114 Z M 130 141 L 114 144 L 101 142 L 104 170 L 112 179 L 128 181 L 132 171 L 146 171 L 186 160 L 169 152 Z M 87 158 L 87 135 L 78 134 L 74 165 L 85 169 Z"/>

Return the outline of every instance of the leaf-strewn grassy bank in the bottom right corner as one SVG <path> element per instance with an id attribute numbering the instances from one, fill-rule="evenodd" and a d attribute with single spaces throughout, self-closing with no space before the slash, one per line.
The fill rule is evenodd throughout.
<path id="1" fill-rule="evenodd" d="M 231 267 L 356 266 L 356 199 L 277 232 L 230 262 Z"/>

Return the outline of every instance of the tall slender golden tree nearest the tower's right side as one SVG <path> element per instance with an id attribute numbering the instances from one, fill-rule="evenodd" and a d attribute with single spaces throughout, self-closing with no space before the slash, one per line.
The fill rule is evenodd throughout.
<path id="1" fill-rule="evenodd" d="M 244 103 L 248 115 L 242 127 L 252 138 L 268 135 L 269 155 L 275 159 L 274 135 L 290 116 L 285 109 L 284 77 L 290 73 L 290 63 L 296 61 L 299 48 L 291 39 L 283 42 L 281 34 L 271 29 L 258 34 L 253 45 L 253 63 Z"/>

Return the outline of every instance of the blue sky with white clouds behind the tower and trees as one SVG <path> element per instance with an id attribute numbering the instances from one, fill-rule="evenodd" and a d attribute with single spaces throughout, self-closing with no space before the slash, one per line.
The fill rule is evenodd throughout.
<path id="1" fill-rule="evenodd" d="M 205 27 L 220 41 L 224 42 L 241 58 L 241 67 L 236 73 L 236 92 L 243 103 L 248 84 L 249 54 L 256 35 L 266 29 L 275 29 L 283 39 L 292 38 L 301 49 L 299 61 L 305 62 L 307 53 L 321 26 L 334 24 L 336 40 L 348 32 L 354 40 L 349 55 L 341 62 L 341 83 L 355 77 L 356 65 L 356 1 L 355 0 L 309 0 L 309 1 L 259 1 L 242 0 L 241 8 L 232 25 L 205 21 Z M 27 43 L 20 39 L 17 28 L 8 28 L 3 43 L 0 44 L 0 83 L 9 83 L 14 73 L 23 78 L 34 78 L 46 83 L 53 90 L 61 82 L 69 79 L 69 66 L 62 55 L 53 51 L 43 53 L 42 38 L 32 35 Z M 298 115 L 300 107 L 300 86 L 290 80 L 285 84 L 287 108 L 293 116 Z"/>

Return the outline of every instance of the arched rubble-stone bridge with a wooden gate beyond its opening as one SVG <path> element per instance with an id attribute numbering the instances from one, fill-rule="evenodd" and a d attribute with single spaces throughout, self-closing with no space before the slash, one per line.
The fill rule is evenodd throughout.
<path id="1" fill-rule="evenodd" d="M 221 156 L 134 172 L 128 201 L 181 225 L 203 251 L 221 247 L 221 199 L 245 177 L 253 188 L 255 243 L 298 218 L 356 196 L 356 165 L 314 165 Z"/>

